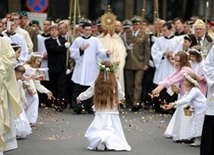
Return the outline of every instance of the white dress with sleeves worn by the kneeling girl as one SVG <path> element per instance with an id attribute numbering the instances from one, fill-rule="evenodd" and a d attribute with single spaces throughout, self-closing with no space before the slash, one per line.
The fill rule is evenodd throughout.
<path id="1" fill-rule="evenodd" d="M 121 86 L 118 82 L 119 98 L 124 98 L 124 93 L 121 91 Z M 94 94 L 93 86 L 88 88 L 85 92 L 79 95 L 79 99 L 85 100 L 90 98 Z M 95 109 L 96 110 L 96 109 Z M 85 137 L 89 142 L 89 150 L 97 150 L 101 140 L 105 142 L 106 150 L 115 151 L 130 151 L 131 147 L 128 144 L 120 116 L 117 108 L 117 104 L 110 109 L 96 110 L 95 117 L 90 126 L 88 127 Z"/>

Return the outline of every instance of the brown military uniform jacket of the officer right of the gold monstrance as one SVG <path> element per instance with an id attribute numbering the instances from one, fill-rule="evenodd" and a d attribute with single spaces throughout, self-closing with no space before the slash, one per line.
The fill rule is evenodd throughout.
<path id="1" fill-rule="evenodd" d="M 125 69 L 139 70 L 145 65 L 149 66 L 150 58 L 150 39 L 149 35 L 140 30 L 137 36 L 132 35 L 132 31 L 127 31 L 125 44 L 127 49 L 127 57 Z"/>

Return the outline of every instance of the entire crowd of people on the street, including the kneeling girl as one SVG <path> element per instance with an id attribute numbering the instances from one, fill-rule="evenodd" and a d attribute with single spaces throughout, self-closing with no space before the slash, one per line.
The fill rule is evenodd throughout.
<path id="1" fill-rule="evenodd" d="M 1 19 L 0 155 L 31 134 L 41 106 L 95 113 L 85 134 L 89 150 L 131 150 L 122 107 L 172 114 L 166 137 L 213 154 L 214 19 L 150 25 L 134 16 L 112 18 L 108 27 L 102 18 L 48 18 L 40 26 L 22 11 Z"/>

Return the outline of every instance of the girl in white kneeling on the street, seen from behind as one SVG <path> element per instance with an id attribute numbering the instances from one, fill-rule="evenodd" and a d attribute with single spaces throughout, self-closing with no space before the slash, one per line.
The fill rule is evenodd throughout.
<path id="1" fill-rule="evenodd" d="M 95 82 L 77 97 L 80 104 L 94 95 L 95 118 L 85 133 L 89 150 L 131 150 L 119 117 L 118 102 L 124 100 L 124 93 L 114 73 L 117 66 L 109 61 L 100 64 Z"/>

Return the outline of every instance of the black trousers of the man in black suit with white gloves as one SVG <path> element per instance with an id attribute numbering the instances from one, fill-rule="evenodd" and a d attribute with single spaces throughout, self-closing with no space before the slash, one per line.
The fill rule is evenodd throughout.
<path id="1" fill-rule="evenodd" d="M 54 97 L 62 100 L 65 97 L 66 74 L 65 70 L 60 72 L 49 72 L 50 90 Z"/>

